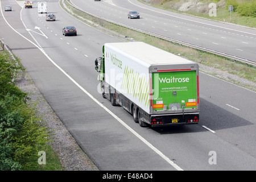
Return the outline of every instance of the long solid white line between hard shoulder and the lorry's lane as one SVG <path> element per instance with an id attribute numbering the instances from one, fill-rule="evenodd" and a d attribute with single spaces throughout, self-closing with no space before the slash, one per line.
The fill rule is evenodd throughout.
<path id="1" fill-rule="evenodd" d="M 0 8 L 1 8 L 1 13 L 3 16 L 3 12 L 2 12 L 2 5 L 0 2 Z M 21 13 L 20 13 L 21 15 Z M 3 19 L 5 19 L 5 16 L 3 16 Z M 7 22 L 7 20 L 5 19 L 5 22 L 10 26 L 10 24 Z M 23 23 L 24 24 L 24 23 Z M 100 105 L 103 109 L 105 109 L 110 115 L 112 115 L 115 119 L 117 119 L 117 121 L 119 123 L 121 123 L 123 126 L 126 127 L 126 129 L 128 129 L 129 131 L 131 131 L 131 133 L 133 133 L 136 137 L 138 137 L 140 140 L 142 140 L 143 143 L 145 143 L 148 147 L 150 147 L 153 151 L 156 152 L 156 154 L 158 154 L 159 156 L 161 156 L 164 160 L 166 160 L 167 163 L 171 164 L 172 167 L 174 167 L 175 169 L 177 169 L 178 171 L 183 171 L 183 169 L 181 169 L 179 166 L 177 166 L 177 164 L 175 164 L 174 162 L 172 162 L 169 158 L 167 158 L 167 156 L 165 156 L 162 152 L 160 152 L 157 148 L 155 148 L 154 146 L 152 146 L 151 143 L 149 143 L 146 139 L 144 139 L 141 135 L 139 135 L 136 131 L 134 131 L 133 129 L 131 129 L 130 126 L 126 125 L 125 122 L 122 121 L 122 119 L 118 118 L 117 115 L 115 115 L 114 113 L 112 113 L 112 111 L 110 111 L 107 107 L 105 107 L 104 105 L 101 104 L 100 101 L 98 101 L 96 98 L 94 98 L 89 92 L 87 92 L 84 88 L 82 88 L 81 85 L 79 85 L 71 76 L 69 76 L 67 73 L 65 73 L 65 71 L 59 67 L 59 65 L 57 65 L 47 54 L 46 52 L 44 52 L 41 48 L 39 48 L 35 43 L 31 42 L 31 40 L 27 39 L 25 36 L 21 35 L 18 31 L 16 31 L 13 27 L 11 27 L 17 34 L 19 34 L 20 36 L 22 36 L 24 39 L 28 40 L 28 42 L 34 44 L 34 46 L 36 46 L 51 62 L 53 65 L 55 65 L 61 72 L 64 73 L 65 76 L 67 76 L 75 85 L 77 85 L 85 94 L 87 94 L 90 98 L 92 98 L 92 100 L 94 102 L 96 102 L 98 105 Z"/>

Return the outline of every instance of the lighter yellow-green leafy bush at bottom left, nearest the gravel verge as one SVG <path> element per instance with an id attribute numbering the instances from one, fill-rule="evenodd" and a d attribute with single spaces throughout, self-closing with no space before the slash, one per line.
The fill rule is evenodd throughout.
<path id="1" fill-rule="evenodd" d="M 49 137 L 46 127 L 39 124 L 40 118 L 35 117 L 32 113 L 32 109 L 26 109 L 24 117 L 27 119 L 16 135 L 11 138 L 15 151 L 13 159 L 22 164 L 22 170 L 39 168 L 38 152 L 46 151 Z"/>

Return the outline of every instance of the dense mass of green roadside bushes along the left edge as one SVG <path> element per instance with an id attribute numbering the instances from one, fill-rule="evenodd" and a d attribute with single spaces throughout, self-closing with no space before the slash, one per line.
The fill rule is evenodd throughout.
<path id="1" fill-rule="evenodd" d="M 15 86 L 22 70 L 19 60 L 0 52 L 0 171 L 38 169 L 38 152 L 48 141 L 46 128 L 27 105 L 27 93 Z"/>

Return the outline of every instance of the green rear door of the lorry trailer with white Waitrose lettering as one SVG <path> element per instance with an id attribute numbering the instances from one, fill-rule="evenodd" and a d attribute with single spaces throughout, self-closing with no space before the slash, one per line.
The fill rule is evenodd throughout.
<path id="1" fill-rule="evenodd" d="M 152 73 L 153 110 L 196 109 L 199 104 L 196 71 Z"/>

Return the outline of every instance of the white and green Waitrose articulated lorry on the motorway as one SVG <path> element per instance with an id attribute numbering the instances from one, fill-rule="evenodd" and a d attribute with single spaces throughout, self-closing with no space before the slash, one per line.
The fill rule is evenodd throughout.
<path id="1" fill-rule="evenodd" d="M 95 60 L 102 96 L 140 126 L 199 122 L 199 65 L 142 42 L 106 43 Z"/>

